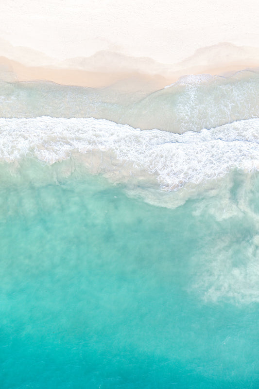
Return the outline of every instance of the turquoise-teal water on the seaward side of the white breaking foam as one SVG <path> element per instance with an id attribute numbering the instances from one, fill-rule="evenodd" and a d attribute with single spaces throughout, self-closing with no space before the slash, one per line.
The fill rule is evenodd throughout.
<path id="1" fill-rule="evenodd" d="M 221 218 L 37 169 L 0 182 L 1 389 L 259 387 L 258 176 Z"/>

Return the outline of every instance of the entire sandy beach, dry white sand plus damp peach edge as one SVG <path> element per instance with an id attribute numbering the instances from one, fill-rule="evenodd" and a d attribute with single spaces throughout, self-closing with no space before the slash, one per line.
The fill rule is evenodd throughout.
<path id="1" fill-rule="evenodd" d="M 29 12 L 28 12 L 29 10 Z M 1 73 L 11 80 L 105 87 L 143 78 L 154 88 L 186 74 L 258 69 L 259 5 L 7 0 Z M 19 31 L 19 34 L 17 34 Z M 9 76 L 8 76 L 9 74 Z M 3 76 L 2 76 L 3 77 Z"/>

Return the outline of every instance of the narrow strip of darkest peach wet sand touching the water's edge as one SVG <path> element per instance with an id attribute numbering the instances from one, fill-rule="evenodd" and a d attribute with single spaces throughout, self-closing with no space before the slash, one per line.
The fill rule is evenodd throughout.
<path id="1" fill-rule="evenodd" d="M 187 64 L 186 64 L 187 65 Z M 179 64 L 178 66 L 179 67 Z M 175 83 L 179 78 L 188 75 L 210 74 L 213 76 L 230 76 L 238 71 L 259 71 L 259 62 L 232 62 L 221 66 L 193 65 L 176 70 L 172 65 L 155 72 L 142 69 L 125 69 L 124 71 L 89 71 L 78 68 L 60 66 L 28 66 L 0 56 L 0 79 L 8 82 L 46 81 L 59 85 L 106 88 L 115 86 L 124 92 L 135 91 L 139 87 L 144 90 L 158 90 Z"/>

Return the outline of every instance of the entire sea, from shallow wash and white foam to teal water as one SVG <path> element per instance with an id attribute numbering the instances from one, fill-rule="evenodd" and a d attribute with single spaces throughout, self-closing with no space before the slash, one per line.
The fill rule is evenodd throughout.
<path id="1" fill-rule="evenodd" d="M 259 388 L 259 73 L 0 87 L 0 388 Z"/>

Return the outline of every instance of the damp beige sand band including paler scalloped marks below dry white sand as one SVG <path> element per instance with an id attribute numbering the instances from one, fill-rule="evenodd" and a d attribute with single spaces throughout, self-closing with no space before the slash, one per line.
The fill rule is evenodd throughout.
<path id="1" fill-rule="evenodd" d="M 216 59 L 216 53 L 213 53 L 212 58 L 209 58 L 208 54 L 211 51 L 224 52 L 227 49 L 229 52 L 231 50 L 233 52 L 232 58 L 228 62 L 224 63 L 224 60 Z M 243 52 L 244 55 L 238 58 L 235 52 Z M 0 78 L 7 81 L 52 81 L 61 85 L 89 88 L 102 88 L 120 83 L 120 88 L 126 88 L 127 90 L 131 88 L 133 90 L 138 89 L 140 83 L 143 88 L 155 90 L 170 85 L 180 77 L 190 74 L 224 76 L 242 70 L 258 71 L 259 60 L 257 61 L 251 55 L 245 55 L 247 53 L 249 54 L 247 48 L 225 44 L 205 48 L 203 55 L 193 55 L 178 64 L 164 65 L 155 63 L 149 58 L 130 57 L 130 61 L 128 61 L 130 66 L 127 62 L 128 58 L 119 54 L 121 58 L 120 69 L 117 69 L 118 66 L 113 66 L 111 60 L 112 57 L 118 56 L 118 53 L 101 53 L 102 61 L 94 61 L 95 65 L 92 64 L 94 56 L 84 58 L 83 65 L 82 58 L 75 58 L 48 66 L 28 66 L 8 57 L 0 56 Z M 215 58 L 214 63 L 213 58 Z M 135 84 L 133 80 L 135 80 Z"/>

